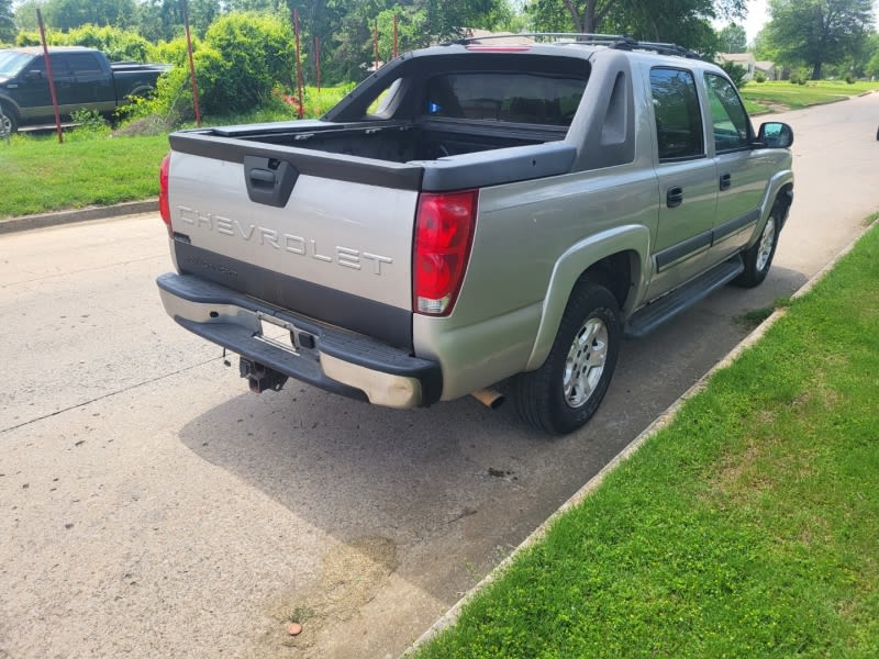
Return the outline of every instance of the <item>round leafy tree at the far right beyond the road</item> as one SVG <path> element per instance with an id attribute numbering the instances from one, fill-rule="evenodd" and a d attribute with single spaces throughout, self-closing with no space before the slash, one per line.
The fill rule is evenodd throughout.
<path id="1" fill-rule="evenodd" d="M 769 13 L 769 45 L 786 64 L 811 67 L 813 80 L 859 53 L 874 21 L 870 0 L 770 0 Z"/>

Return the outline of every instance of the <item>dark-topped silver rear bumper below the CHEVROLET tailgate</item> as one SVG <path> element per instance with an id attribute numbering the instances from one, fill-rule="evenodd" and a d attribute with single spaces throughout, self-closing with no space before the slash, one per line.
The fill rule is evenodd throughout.
<path id="1" fill-rule="evenodd" d="M 285 376 L 388 407 L 439 400 L 439 365 L 198 279 L 173 272 L 156 283 L 165 311 L 199 336 Z M 279 337 L 266 336 L 277 328 Z"/>

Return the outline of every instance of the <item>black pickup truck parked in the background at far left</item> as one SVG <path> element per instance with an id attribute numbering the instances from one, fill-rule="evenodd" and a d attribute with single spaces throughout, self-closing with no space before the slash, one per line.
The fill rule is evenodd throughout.
<path id="1" fill-rule="evenodd" d="M 164 64 L 111 64 L 100 51 L 79 46 L 49 48 L 52 75 L 63 116 L 88 109 L 109 114 L 130 97 L 155 89 Z M 3 127 L 14 133 L 20 125 L 52 122 L 46 63 L 41 47 L 0 51 L 0 109 Z"/>

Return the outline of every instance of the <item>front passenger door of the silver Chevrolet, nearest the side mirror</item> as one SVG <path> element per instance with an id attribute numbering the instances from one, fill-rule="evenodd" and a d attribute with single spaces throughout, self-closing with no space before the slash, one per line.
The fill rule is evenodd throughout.
<path id="1" fill-rule="evenodd" d="M 754 233 L 771 171 L 765 158 L 752 148 L 754 129 L 735 86 L 711 72 L 705 74 L 704 81 L 719 190 L 711 259 L 722 261 L 743 247 Z"/>

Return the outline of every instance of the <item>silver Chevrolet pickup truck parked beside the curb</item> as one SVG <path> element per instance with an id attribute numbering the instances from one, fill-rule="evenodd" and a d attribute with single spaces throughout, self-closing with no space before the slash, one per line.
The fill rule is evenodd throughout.
<path id="1" fill-rule="evenodd" d="M 792 141 L 678 46 L 434 46 L 321 120 L 171 134 L 158 288 L 256 392 L 292 377 L 415 407 L 504 382 L 523 420 L 569 433 L 624 336 L 764 280 Z"/>

